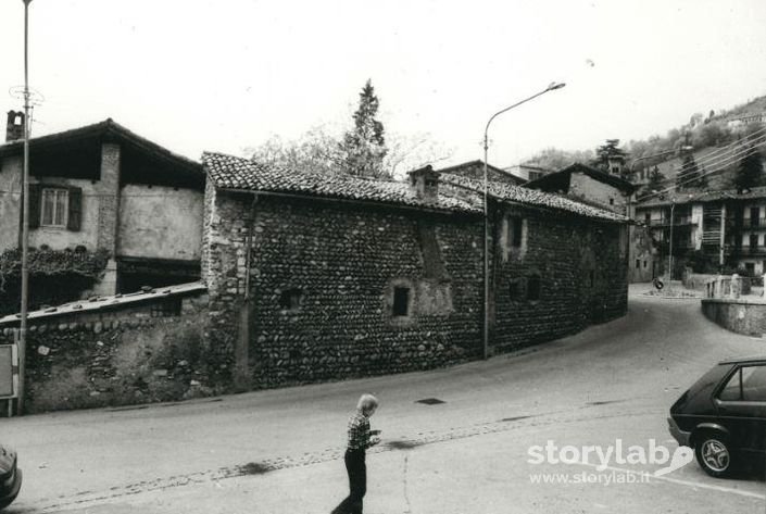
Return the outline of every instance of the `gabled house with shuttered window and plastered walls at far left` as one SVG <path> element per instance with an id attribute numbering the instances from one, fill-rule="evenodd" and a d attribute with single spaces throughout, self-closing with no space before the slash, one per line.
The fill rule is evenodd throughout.
<path id="1" fill-rule="evenodd" d="M 21 246 L 20 120 L 23 113 L 9 113 L 0 146 L 0 253 Z M 29 246 L 103 252 L 108 263 L 91 293 L 199 279 L 199 163 L 112 120 L 33 138 L 29 152 Z"/>

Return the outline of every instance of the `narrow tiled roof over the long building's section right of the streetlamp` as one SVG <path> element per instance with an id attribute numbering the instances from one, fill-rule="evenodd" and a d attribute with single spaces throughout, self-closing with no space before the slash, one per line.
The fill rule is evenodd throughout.
<path id="1" fill-rule="evenodd" d="M 472 178 L 465 178 L 457 175 L 442 174 L 441 180 L 465 189 L 470 189 L 476 192 L 484 192 L 484 181 Z M 587 205 L 570 198 L 553 195 L 550 192 L 538 191 L 536 189 L 527 189 L 519 186 L 511 186 L 497 181 L 487 184 L 487 193 L 502 201 L 522 203 L 525 205 L 555 209 L 565 211 L 579 216 L 591 217 L 595 220 L 604 220 L 608 222 L 627 223 L 628 217 L 617 214 L 605 209 L 599 209 L 593 205 Z"/>

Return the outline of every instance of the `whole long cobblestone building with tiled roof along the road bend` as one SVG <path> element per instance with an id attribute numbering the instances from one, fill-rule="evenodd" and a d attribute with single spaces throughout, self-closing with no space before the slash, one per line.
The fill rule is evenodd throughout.
<path id="1" fill-rule="evenodd" d="M 430 368 L 623 315 L 627 218 L 491 183 L 484 334 L 481 183 L 410 183 L 204 153 L 210 348 L 238 388 Z"/>

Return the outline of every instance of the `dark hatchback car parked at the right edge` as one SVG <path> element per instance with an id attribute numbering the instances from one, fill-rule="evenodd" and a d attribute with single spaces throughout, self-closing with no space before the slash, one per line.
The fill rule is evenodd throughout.
<path id="1" fill-rule="evenodd" d="M 670 408 L 669 430 L 711 476 L 766 456 L 766 356 L 723 361 Z"/>

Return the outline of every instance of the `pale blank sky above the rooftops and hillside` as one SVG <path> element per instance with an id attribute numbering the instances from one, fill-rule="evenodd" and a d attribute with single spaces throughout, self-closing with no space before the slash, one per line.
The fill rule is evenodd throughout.
<path id="1" fill-rule="evenodd" d="M 33 137 L 112 117 L 243 155 L 341 134 L 371 79 L 386 133 L 443 164 L 642 139 L 766 95 L 763 0 L 33 0 Z M 0 0 L 0 110 L 21 109 L 24 2 Z M 4 117 L 4 116 L 3 116 Z"/>

